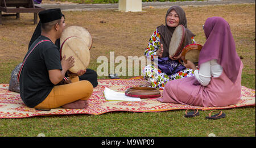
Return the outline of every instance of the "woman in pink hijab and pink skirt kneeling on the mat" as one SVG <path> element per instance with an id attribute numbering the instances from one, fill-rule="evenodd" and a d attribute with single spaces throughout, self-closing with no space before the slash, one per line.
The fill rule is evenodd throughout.
<path id="1" fill-rule="evenodd" d="M 241 98 L 243 64 L 228 22 L 220 17 L 208 18 L 204 24 L 205 42 L 199 56 L 199 69 L 188 61 L 195 77 L 177 79 L 166 84 L 160 102 L 203 107 L 237 104 Z"/>

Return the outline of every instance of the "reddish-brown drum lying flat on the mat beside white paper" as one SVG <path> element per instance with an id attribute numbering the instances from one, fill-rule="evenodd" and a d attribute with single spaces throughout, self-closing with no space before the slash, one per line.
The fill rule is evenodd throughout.
<path id="1" fill-rule="evenodd" d="M 125 91 L 126 96 L 136 98 L 158 98 L 160 91 L 152 87 L 130 87 Z"/>

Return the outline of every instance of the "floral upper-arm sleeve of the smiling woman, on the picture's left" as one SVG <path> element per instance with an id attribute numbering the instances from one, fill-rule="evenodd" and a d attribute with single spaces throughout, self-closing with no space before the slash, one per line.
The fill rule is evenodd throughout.
<path id="1" fill-rule="evenodd" d="M 144 52 L 144 55 L 146 57 L 150 57 L 151 60 L 153 60 L 154 56 L 156 56 L 156 51 L 159 49 L 159 46 L 160 46 L 160 34 L 158 30 L 155 29 L 154 33 L 150 37 L 150 40 Z"/>

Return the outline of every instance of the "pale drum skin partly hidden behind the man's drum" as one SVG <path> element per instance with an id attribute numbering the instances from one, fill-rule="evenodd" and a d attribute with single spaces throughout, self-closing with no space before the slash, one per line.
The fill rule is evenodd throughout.
<path id="1" fill-rule="evenodd" d="M 70 26 L 65 28 L 60 37 L 60 45 L 63 44 L 64 40 L 71 36 L 77 36 L 84 40 L 89 50 L 92 47 L 92 36 L 84 27 L 80 26 Z"/>

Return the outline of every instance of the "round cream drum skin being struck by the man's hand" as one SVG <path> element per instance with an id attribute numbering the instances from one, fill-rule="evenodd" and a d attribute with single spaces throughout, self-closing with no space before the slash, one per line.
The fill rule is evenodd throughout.
<path id="1" fill-rule="evenodd" d="M 60 48 L 61 59 L 66 55 L 66 59 L 70 56 L 75 58 L 75 66 L 69 71 L 77 74 L 79 70 L 85 70 L 90 62 L 90 50 L 83 40 L 79 37 L 71 36 L 63 41 Z"/>

